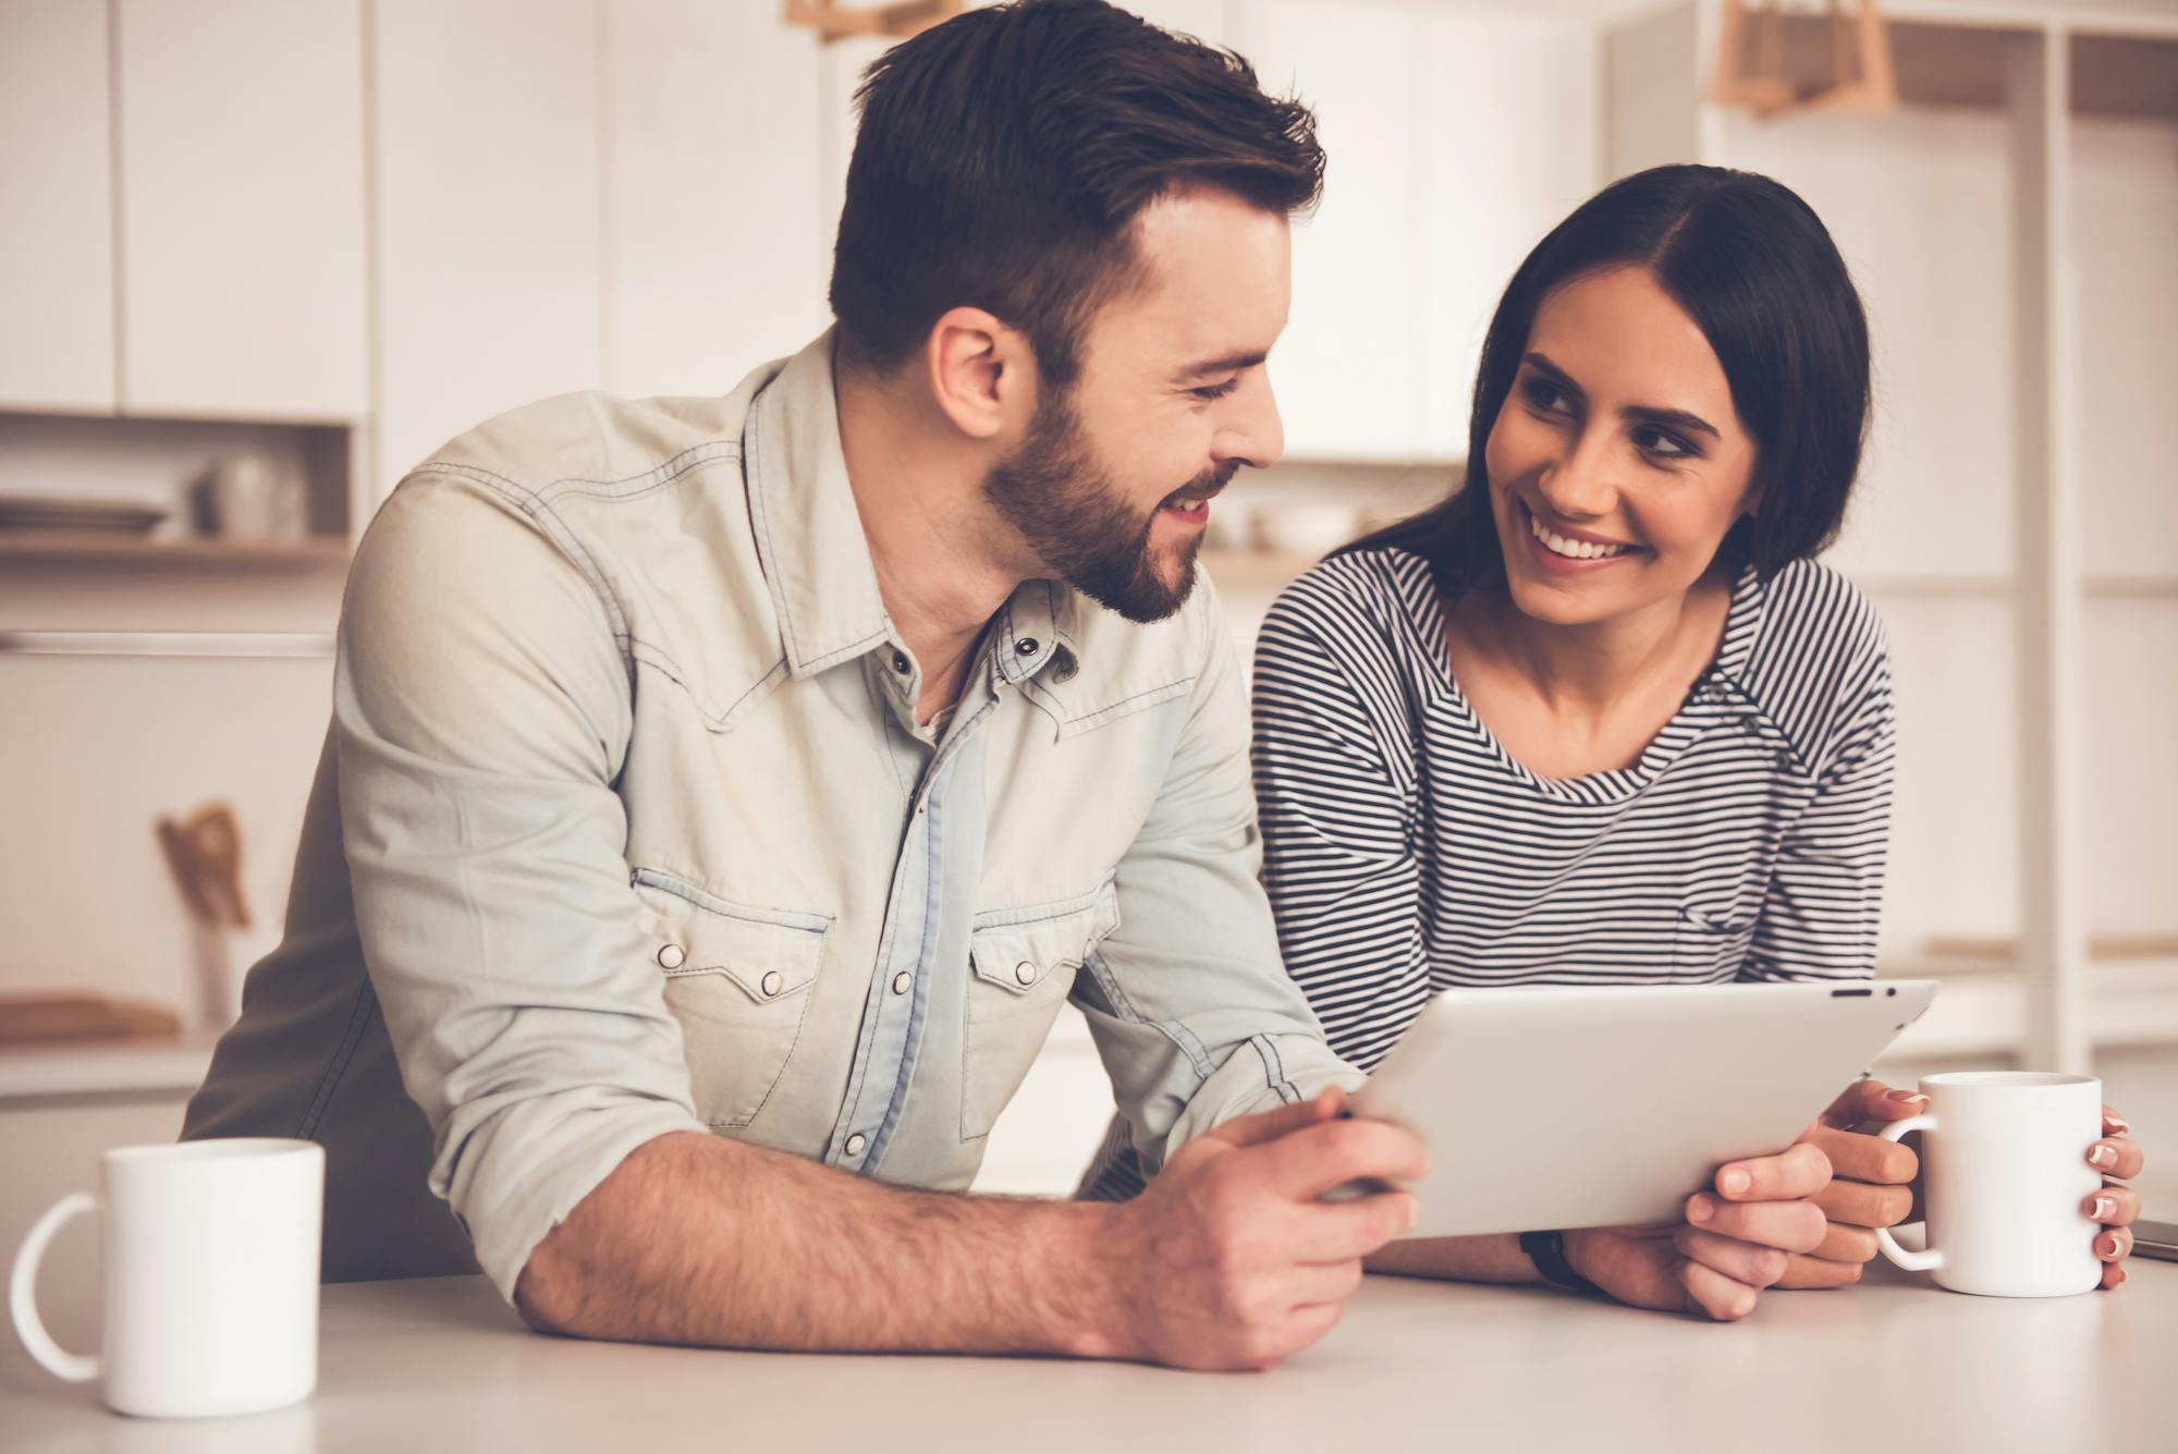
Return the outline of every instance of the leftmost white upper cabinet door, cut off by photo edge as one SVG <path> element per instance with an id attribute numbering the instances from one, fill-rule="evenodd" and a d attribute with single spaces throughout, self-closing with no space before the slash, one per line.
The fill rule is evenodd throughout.
<path id="1" fill-rule="evenodd" d="M 0 405 L 113 407 L 107 7 L 0 0 Z"/>

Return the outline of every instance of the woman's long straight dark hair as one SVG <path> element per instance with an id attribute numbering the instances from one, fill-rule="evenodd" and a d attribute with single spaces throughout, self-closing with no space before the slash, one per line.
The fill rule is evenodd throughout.
<path id="1" fill-rule="evenodd" d="M 1483 446 L 1542 300 L 1625 263 L 1653 272 L 1701 326 L 1755 442 L 1762 512 L 1738 520 L 1721 553 L 1771 577 L 1836 538 L 1869 420 L 1869 322 L 1845 259 L 1821 218 L 1769 176 L 1666 165 L 1612 183 L 1535 244 L 1483 337 L 1466 483 L 1348 551 L 1414 551 L 1446 594 L 1505 583 Z"/>

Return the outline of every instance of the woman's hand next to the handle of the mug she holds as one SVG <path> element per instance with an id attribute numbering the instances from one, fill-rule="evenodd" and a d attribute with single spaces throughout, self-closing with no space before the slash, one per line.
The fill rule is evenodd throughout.
<path id="1" fill-rule="evenodd" d="M 1897 1141 L 1864 1136 L 1856 1128 L 1869 1121 L 1904 1121 L 1923 1110 L 1928 1097 L 1919 1090 L 1893 1090 L 1880 1080 L 1860 1080 L 1808 1128 L 1801 1143 L 1823 1151 L 1834 1171 L 1830 1186 L 1814 1197 L 1830 1228 L 1812 1252 L 1790 1260 L 1777 1286 L 1860 1282 L 1860 1269 L 1877 1252 L 1875 1228 L 1895 1228 L 1912 1217 L 1912 1182 L 1921 1173 L 1921 1158 Z"/>

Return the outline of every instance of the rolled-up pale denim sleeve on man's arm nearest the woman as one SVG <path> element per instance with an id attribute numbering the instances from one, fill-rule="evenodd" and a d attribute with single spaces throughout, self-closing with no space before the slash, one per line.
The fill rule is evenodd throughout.
<path id="1" fill-rule="evenodd" d="M 1257 882 L 1246 690 L 1215 609 L 1204 627 L 1178 749 L 1119 860 L 1119 927 L 1074 993 L 1146 1173 L 1233 1117 L 1366 1080 L 1324 1045 L 1278 960 Z"/>

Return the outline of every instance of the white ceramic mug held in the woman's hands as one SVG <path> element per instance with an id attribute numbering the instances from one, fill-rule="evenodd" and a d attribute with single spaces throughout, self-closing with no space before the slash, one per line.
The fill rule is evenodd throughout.
<path id="1" fill-rule="evenodd" d="M 1928 1252 L 1875 1241 L 1908 1271 L 1954 1293 L 2065 1297 L 2102 1286 L 2102 1191 L 2087 1149 L 2102 1136 L 2102 1082 L 2045 1071 L 1958 1071 L 1921 1082 L 1928 1112 L 1893 1121 L 1884 1141 L 1921 1138 Z"/>

